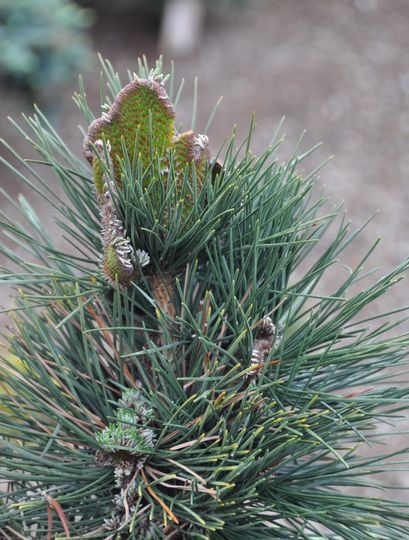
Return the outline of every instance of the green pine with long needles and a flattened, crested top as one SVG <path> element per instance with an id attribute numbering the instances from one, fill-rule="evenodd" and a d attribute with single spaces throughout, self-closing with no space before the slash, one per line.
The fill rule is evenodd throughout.
<path id="1" fill-rule="evenodd" d="M 6 145 L 71 246 L 23 197 L 22 224 L 2 216 L 20 250 L 2 247 L 15 268 L 2 275 L 15 291 L 2 538 L 409 538 L 407 505 L 381 475 L 406 470 L 406 450 L 390 429 L 379 447 L 407 409 L 409 389 L 393 382 L 405 310 L 362 313 L 409 260 L 350 292 L 371 248 L 320 295 L 359 230 L 315 197 L 315 173 L 299 173 L 309 152 L 255 156 L 252 123 L 211 153 L 206 135 L 177 132 L 180 89 L 161 62 L 140 62 L 125 85 L 102 68 L 102 116 L 82 86 L 75 97 L 86 159 L 38 109 L 15 126 L 39 159 Z"/>

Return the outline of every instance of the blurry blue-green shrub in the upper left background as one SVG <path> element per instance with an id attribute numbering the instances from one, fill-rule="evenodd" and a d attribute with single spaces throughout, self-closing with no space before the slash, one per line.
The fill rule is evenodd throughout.
<path id="1" fill-rule="evenodd" d="M 2 0 L 0 73 L 31 92 L 63 84 L 90 60 L 92 22 L 70 0 Z"/>

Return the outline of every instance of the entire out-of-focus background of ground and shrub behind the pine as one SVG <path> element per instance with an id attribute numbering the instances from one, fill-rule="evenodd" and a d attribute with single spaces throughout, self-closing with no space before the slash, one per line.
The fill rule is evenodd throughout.
<path id="1" fill-rule="evenodd" d="M 179 119 L 190 118 L 196 75 L 198 131 L 224 96 L 209 133 L 213 150 L 234 124 L 244 135 L 253 111 L 255 152 L 282 116 L 283 158 L 304 129 L 304 150 L 323 141 L 305 167 L 334 155 L 319 180 L 331 202 L 344 200 L 356 226 L 380 209 L 345 253 L 346 265 L 359 262 L 378 236 L 371 265 L 381 267 L 378 275 L 409 254 L 408 0 L 0 0 L 0 51 L 1 136 L 23 155 L 30 148 L 8 115 L 19 118 L 37 102 L 80 154 L 82 119 L 71 99 L 77 74 L 99 115 L 96 52 L 122 74 L 138 56 L 152 62 L 163 53 L 165 66 L 173 58 L 187 81 Z M 21 191 L 4 167 L 0 179 L 12 197 Z M 42 203 L 24 194 L 41 212 Z M 0 205 L 13 211 L 6 197 Z M 53 230 L 48 211 L 41 217 Z M 347 269 L 338 271 L 345 277 Z M 330 291 L 338 277 L 324 287 Z M 408 303 L 403 284 L 372 309 Z"/>

